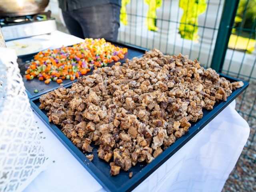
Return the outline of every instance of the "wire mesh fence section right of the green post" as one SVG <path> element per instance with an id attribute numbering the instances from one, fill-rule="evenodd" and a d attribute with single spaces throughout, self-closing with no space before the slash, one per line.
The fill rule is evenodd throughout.
<path id="1" fill-rule="evenodd" d="M 236 35 L 234 40 L 233 48 L 226 51 L 225 63 L 222 68 L 222 73 L 234 76 L 250 82 L 250 87 L 246 90 L 242 96 L 237 99 L 236 109 L 244 117 L 245 120 L 250 124 L 250 137 L 245 146 L 246 150 L 242 155 L 247 158 L 251 158 L 256 161 L 255 158 L 255 140 L 256 140 L 256 50 L 249 52 L 249 45 L 251 40 L 255 40 L 255 28 L 256 28 L 256 18 L 252 18 L 250 28 L 246 28 L 243 25 L 244 20 L 246 20 L 246 15 L 251 9 L 252 3 L 256 5 L 254 0 L 240 0 L 239 6 L 242 6 L 242 11 L 237 10 L 236 17 L 240 14 L 241 22 L 234 24 L 230 28 L 232 29 L 232 35 Z M 255 8 L 255 7 L 254 7 Z M 256 10 L 254 10 L 256 12 Z M 246 36 L 246 40 L 242 43 L 244 44 L 243 50 L 238 49 L 240 36 Z M 255 44 L 254 44 L 255 46 Z"/>

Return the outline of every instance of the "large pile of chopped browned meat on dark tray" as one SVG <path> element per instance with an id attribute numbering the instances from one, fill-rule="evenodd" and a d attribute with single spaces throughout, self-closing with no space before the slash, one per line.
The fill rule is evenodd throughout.
<path id="1" fill-rule="evenodd" d="M 98 157 L 117 175 L 137 162 L 152 162 L 202 118 L 203 108 L 212 110 L 242 86 L 197 60 L 154 49 L 42 95 L 40 109 L 84 152 L 98 145 Z"/>

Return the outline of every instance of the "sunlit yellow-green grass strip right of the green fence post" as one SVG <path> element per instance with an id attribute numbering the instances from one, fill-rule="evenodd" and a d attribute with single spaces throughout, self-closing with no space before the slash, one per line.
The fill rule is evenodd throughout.
<path id="1" fill-rule="evenodd" d="M 230 49 L 235 49 L 236 50 L 246 50 L 246 53 L 252 54 L 253 50 L 254 50 L 254 46 L 255 46 L 255 39 L 250 39 L 249 44 L 248 44 L 248 40 L 249 38 L 245 38 L 245 37 L 238 37 L 238 40 L 236 42 L 237 39 L 237 35 L 231 34 L 229 42 L 228 42 L 228 48 Z M 235 45 L 236 44 L 236 45 Z M 246 47 L 248 44 L 248 47 Z"/>

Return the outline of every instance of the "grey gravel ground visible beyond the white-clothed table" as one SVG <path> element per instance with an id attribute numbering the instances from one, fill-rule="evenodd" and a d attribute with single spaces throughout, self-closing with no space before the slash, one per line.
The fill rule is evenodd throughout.
<path id="1" fill-rule="evenodd" d="M 58 19 L 58 16 L 53 16 L 56 18 L 57 29 L 69 33 Z M 256 83 L 250 83 L 245 94 L 236 99 L 236 110 L 240 112 L 250 125 L 250 136 L 222 192 L 256 191 L 256 136 L 254 136 L 256 130 L 256 107 L 253 105 L 253 103 L 256 105 L 255 96 Z M 241 103 L 242 107 L 240 108 Z M 248 114 L 254 117 L 249 117 Z"/>

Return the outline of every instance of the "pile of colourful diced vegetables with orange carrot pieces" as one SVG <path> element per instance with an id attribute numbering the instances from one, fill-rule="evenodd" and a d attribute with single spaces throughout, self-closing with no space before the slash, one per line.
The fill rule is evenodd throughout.
<path id="1" fill-rule="evenodd" d="M 72 47 L 41 51 L 26 70 L 26 79 L 37 77 L 49 84 L 62 83 L 63 79 L 75 80 L 92 69 L 107 66 L 124 58 L 127 48 L 119 48 L 105 39 L 86 38 L 85 42 Z"/>

